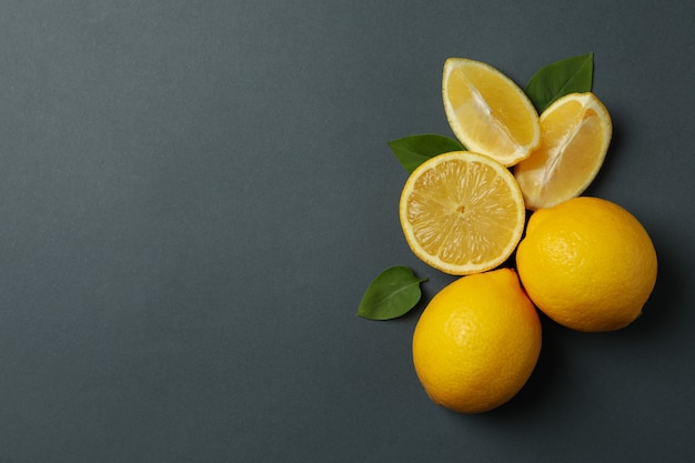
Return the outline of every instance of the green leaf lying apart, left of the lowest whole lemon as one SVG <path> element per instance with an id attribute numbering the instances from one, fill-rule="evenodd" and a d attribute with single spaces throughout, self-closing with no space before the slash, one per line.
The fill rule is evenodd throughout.
<path id="1" fill-rule="evenodd" d="M 367 288 L 357 315 L 370 320 L 391 320 L 406 314 L 415 306 L 427 279 L 415 276 L 407 266 L 392 266 L 381 272 Z"/>

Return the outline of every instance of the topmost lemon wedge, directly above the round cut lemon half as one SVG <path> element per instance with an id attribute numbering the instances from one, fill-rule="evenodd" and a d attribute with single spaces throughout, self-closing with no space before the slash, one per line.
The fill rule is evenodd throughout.
<path id="1" fill-rule="evenodd" d="M 538 113 L 528 97 L 490 64 L 447 59 L 442 97 L 452 131 L 471 151 L 508 167 L 527 158 L 541 140 Z"/>

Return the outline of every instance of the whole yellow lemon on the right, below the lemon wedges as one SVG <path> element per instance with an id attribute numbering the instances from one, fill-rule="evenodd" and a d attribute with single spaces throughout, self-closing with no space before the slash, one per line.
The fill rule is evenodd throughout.
<path id="1" fill-rule="evenodd" d="M 637 219 L 600 198 L 535 211 L 516 251 L 522 284 L 557 323 L 613 331 L 642 312 L 656 282 L 656 251 Z"/>

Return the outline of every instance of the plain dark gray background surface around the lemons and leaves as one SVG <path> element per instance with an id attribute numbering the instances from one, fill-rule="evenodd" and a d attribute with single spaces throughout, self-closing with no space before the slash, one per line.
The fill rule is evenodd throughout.
<path id="1" fill-rule="evenodd" d="M 0 2 L 0 462 L 686 462 L 695 457 L 695 3 Z M 520 84 L 595 53 L 587 194 L 652 234 L 645 314 L 543 319 L 526 387 L 433 405 L 422 306 L 355 316 L 421 264 L 386 141 L 451 135 L 449 57 Z"/>

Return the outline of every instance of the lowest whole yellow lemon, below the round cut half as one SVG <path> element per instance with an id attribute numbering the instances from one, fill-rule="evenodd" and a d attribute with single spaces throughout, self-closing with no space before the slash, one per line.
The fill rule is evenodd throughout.
<path id="1" fill-rule="evenodd" d="M 430 301 L 413 333 L 413 364 L 430 399 L 461 413 L 511 400 L 541 352 L 538 314 L 511 269 L 462 276 Z"/>

